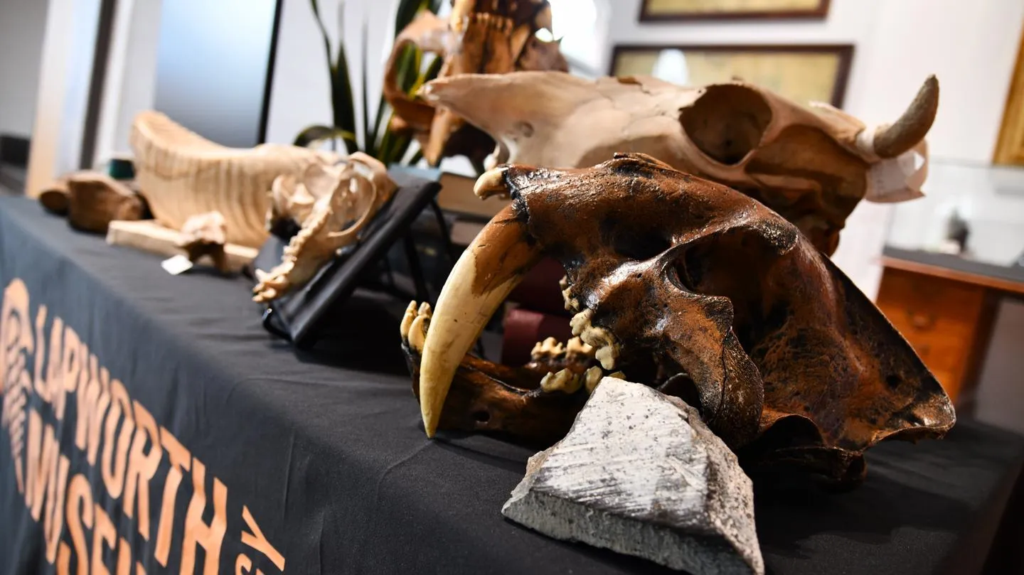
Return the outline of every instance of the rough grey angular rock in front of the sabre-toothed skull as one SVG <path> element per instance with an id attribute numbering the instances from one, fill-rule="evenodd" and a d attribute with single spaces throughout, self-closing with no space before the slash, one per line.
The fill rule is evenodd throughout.
<path id="1" fill-rule="evenodd" d="M 696 409 L 604 378 L 502 507 L 541 533 L 695 575 L 764 573 L 754 490 Z"/>

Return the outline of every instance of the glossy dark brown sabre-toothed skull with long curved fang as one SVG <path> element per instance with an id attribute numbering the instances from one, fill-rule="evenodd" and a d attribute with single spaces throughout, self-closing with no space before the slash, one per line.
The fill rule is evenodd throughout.
<path id="1" fill-rule="evenodd" d="M 428 436 L 487 430 L 551 444 L 610 372 L 682 397 L 748 462 L 850 484 L 874 443 L 941 437 L 955 421 L 874 305 L 742 193 L 639 153 L 587 169 L 497 168 L 476 191 L 511 203 L 436 309 L 414 302 L 401 325 Z M 538 344 L 519 367 L 468 355 L 545 256 L 565 268 L 578 338 Z"/>

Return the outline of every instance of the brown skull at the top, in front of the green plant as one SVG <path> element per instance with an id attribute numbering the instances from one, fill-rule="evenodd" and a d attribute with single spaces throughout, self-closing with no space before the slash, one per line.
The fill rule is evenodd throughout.
<path id="1" fill-rule="evenodd" d="M 464 153 L 482 161 L 493 141 L 443 107 L 414 99 L 398 86 L 398 59 L 413 44 L 443 57 L 438 78 L 460 74 L 505 74 L 523 70 L 568 71 L 558 42 L 537 38 L 551 31 L 547 0 L 453 0 L 447 19 L 420 12 L 397 38 L 384 76 L 384 97 L 394 108 L 392 126 L 420 141 L 424 158 L 436 165 Z"/>

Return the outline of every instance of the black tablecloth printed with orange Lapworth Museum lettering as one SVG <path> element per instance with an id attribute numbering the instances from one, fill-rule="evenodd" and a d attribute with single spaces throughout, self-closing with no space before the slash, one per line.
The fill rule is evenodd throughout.
<path id="1" fill-rule="evenodd" d="M 260 326 L 248 281 L 171 276 L 159 260 L 0 197 L 0 572 L 65 561 L 75 572 L 79 557 L 97 554 L 112 573 L 118 561 L 133 573 L 178 573 L 182 561 L 188 573 L 190 563 L 206 573 L 663 571 L 505 521 L 501 505 L 530 450 L 424 437 L 398 349 L 404 302 L 356 292 L 332 337 L 296 352 Z M 90 382 L 94 405 L 112 406 L 95 431 L 80 422 L 102 413 L 89 407 Z M 167 489 L 171 451 L 177 489 Z M 159 457 L 148 473 L 143 455 Z M 872 449 L 867 481 L 852 492 L 759 491 L 769 573 L 978 572 L 990 548 L 1019 546 L 992 541 L 1020 533 L 1004 511 L 1022 457 L 1022 438 L 962 422 L 942 441 Z M 176 498 L 165 508 L 168 492 Z"/>

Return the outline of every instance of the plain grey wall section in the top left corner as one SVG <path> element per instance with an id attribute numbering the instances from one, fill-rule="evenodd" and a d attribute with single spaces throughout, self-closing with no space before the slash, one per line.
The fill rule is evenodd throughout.
<path id="1" fill-rule="evenodd" d="M 46 5 L 47 0 L 0 1 L 0 134 L 32 133 Z"/>

